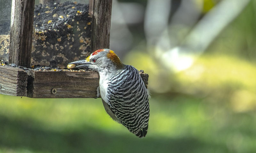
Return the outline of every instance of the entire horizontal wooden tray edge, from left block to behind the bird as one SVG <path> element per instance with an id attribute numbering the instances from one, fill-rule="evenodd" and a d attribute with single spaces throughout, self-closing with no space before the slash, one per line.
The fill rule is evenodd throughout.
<path id="1" fill-rule="evenodd" d="M 141 73 L 145 85 L 148 74 Z M 30 98 L 94 98 L 99 86 L 99 73 L 94 71 L 24 71 L 0 66 L 0 94 Z"/>

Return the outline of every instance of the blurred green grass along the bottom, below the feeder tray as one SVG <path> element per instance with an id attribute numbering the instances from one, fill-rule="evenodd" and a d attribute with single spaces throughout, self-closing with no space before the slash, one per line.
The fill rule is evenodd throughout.
<path id="1" fill-rule="evenodd" d="M 255 152 L 255 112 L 191 96 L 153 96 L 148 135 L 137 138 L 100 99 L 0 95 L 0 152 Z"/>

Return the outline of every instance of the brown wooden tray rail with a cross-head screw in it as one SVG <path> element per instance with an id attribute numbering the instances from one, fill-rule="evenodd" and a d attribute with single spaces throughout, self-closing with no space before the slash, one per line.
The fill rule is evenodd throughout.
<path id="1" fill-rule="evenodd" d="M 28 97 L 31 98 L 93 98 L 99 86 L 97 72 L 29 71 L 28 75 Z"/>

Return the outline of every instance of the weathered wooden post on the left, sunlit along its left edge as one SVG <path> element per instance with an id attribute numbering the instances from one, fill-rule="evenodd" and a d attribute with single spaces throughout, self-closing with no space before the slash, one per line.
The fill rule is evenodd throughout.
<path id="1" fill-rule="evenodd" d="M 10 57 L 16 65 L 30 67 L 35 0 L 12 0 Z"/>

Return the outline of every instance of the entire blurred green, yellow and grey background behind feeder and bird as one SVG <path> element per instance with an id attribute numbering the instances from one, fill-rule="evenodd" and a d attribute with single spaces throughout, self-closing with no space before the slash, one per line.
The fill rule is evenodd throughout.
<path id="1" fill-rule="evenodd" d="M 219 29 L 217 8 L 235 14 Z M 255 0 L 113 0 L 110 49 L 149 74 L 147 137 L 100 99 L 0 95 L 0 152 L 256 152 L 255 27 Z"/>

